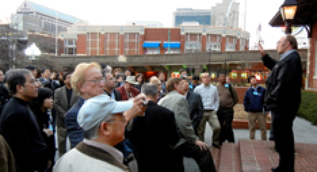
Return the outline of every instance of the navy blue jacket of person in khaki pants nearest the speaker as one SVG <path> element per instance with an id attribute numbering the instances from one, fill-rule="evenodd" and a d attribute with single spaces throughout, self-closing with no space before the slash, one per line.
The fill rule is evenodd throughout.
<path id="1" fill-rule="evenodd" d="M 250 87 L 244 95 L 243 105 L 247 112 L 261 112 L 263 111 L 263 100 L 265 95 L 265 88 L 258 86 L 256 89 Z"/>

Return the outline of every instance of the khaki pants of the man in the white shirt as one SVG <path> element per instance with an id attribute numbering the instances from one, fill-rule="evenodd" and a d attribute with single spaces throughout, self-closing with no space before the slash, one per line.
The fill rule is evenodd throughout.
<path id="1" fill-rule="evenodd" d="M 210 127 L 213 129 L 212 143 L 219 145 L 220 124 L 216 115 L 216 111 L 204 111 L 204 116 L 197 127 L 197 135 L 199 139 L 204 142 L 207 121 L 209 122 Z"/>

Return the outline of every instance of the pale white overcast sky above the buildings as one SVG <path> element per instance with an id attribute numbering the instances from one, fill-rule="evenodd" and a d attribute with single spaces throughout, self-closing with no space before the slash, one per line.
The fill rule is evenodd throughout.
<path id="1" fill-rule="evenodd" d="M 3 0 L 0 6 L 0 19 L 5 21 L 5 17 L 10 18 L 10 14 L 23 0 Z M 104 25 L 125 25 L 127 21 L 159 21 L 164 27 L 172 27 L 173 11 L 177 8 L 210 9 L 222 0 L 32 0 L 42 6 L 58 10 L 65 14 L 88 21 L 90 24 Z M 266 49 L 276 48 L 276 42 L 284 35 L 279 28 L 272 28 L 268 22 L 284 0 L 236 0 L 240 3 L 239 27 L 243 28 L 244 7 L 246 5 L 245 30 L 251 34 L 250 46 L 256 41 L 256 28 L 262 24 L 263 47 Z"/>

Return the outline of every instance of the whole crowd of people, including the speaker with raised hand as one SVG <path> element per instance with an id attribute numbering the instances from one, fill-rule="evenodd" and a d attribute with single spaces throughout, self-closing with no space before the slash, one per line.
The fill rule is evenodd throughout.
<path id="1" fill-rule="evenodd" d="M 272 74 L 266 89 L 249 76 L 251 86 L 243 104 L 249 113 L 250 139 L 255 139 L 258 121 L 262 140 L 267 140 L 266 115 L 270 111 L 274 135 L 269 139 L 275 141 L 281 157 L 280 166 L 272 170 L 294 171 L 292 121 L 300 88 L 288 82 L 301 83 L 301 64 L 292 36 L 281 38 L 277 49 L 281 61 L 260 49 Z M 226 73 L 218 73 L 218 83 L 213 85 L 209 73 L 189 77 L 185 70 L 180 72 L 180 77 L 167 79 L 166 73 L 159 72 L 146 80 L 142 73 L 106 70 L 94 62 L 80 63 L 70 73 L 36 66 L 10 69 L 5 74 L 0 71 L 1 168 L 18 172 L 181 172 L 183 157 L 190 157 L 200 171 L 216 171 L 205 143 L 206 123 L 213 130 L 214 149 L 221 149 L 225 141 L 235 142 L 232 122 L 239 101 L 237 91 Z M 293 98 L 290 89 L 295 90 L 296 101 L 289 101 Z M 286 113 L 293 114 L 287 124 L 285 118 L 282 121 Z M 67 150 L 67 138 L 71 150 Z"/>

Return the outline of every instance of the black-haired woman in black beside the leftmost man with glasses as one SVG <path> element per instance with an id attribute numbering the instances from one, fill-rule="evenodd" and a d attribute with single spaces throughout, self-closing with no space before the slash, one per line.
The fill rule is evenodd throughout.
<path id="1" fill-rule="evenodd" d="M 36 116 L 38 125 L 42 132 L 42 136 L 48 146 L 49 153 L 47 155 L 47 159 L 49 161 L 47 171 L 51 171 L 54 163 L 55 157 L 55 140 L 54 140 L 54 132 L 50 127 L 50 117 L 49 117 L 49 109 L 53 108 L 54 100 L 53 100 L 53 91 L 48 88 L 39 88 L 38 89 L 38 97 L 33 99 L 30 102 L 30 108 L 34 115 Z"/>

